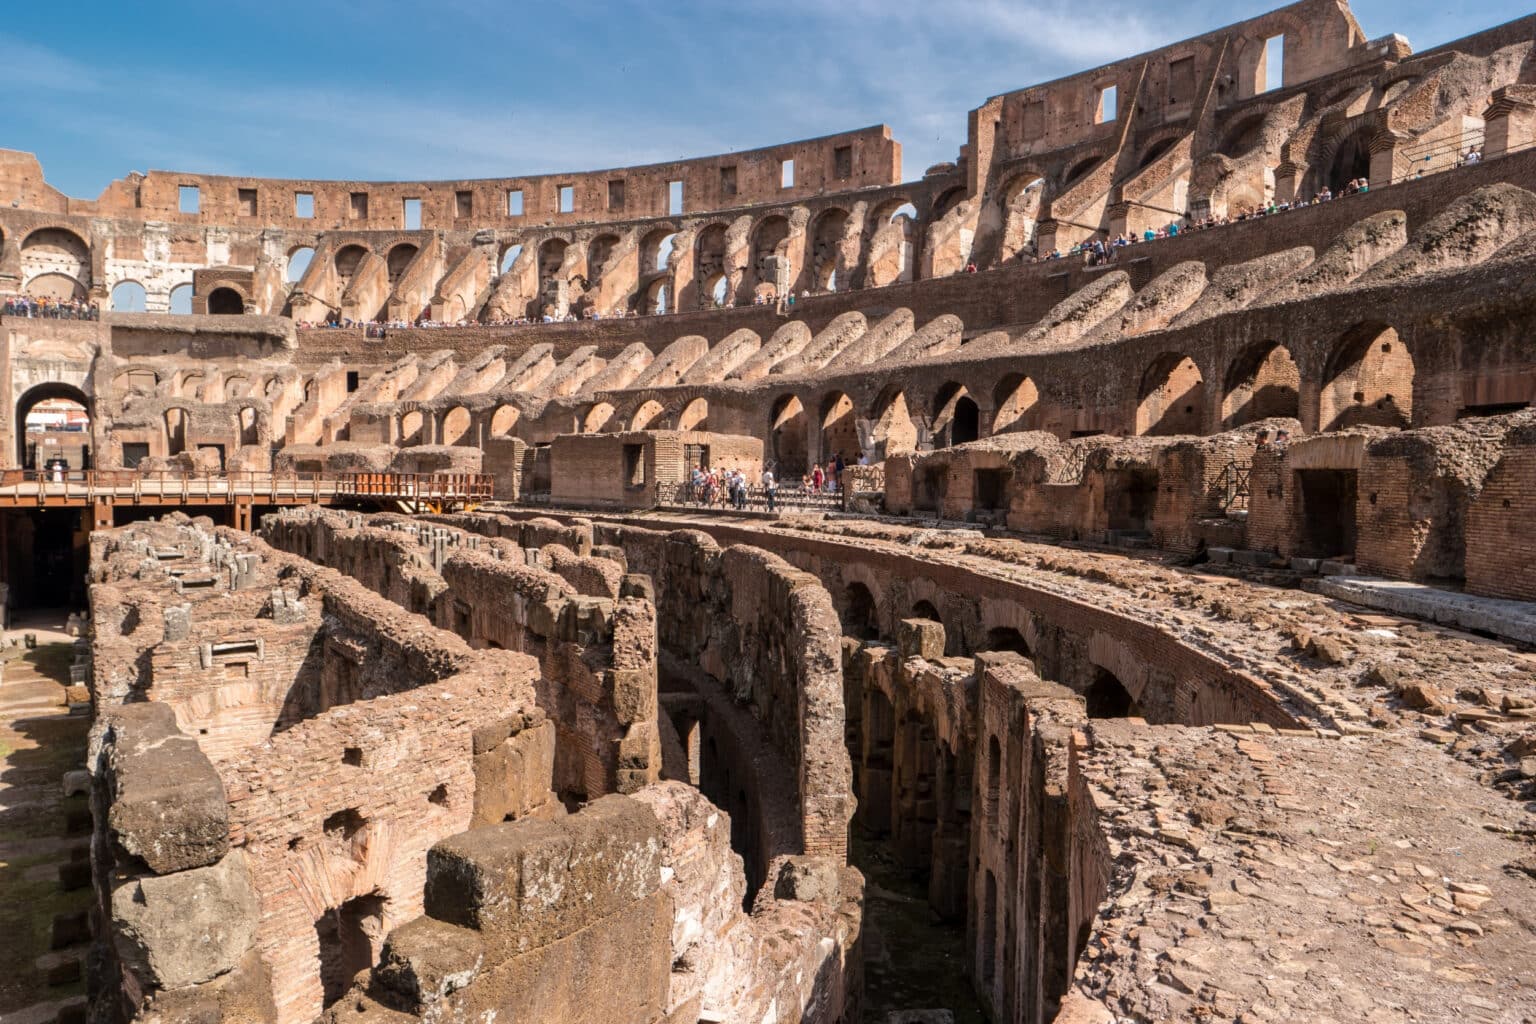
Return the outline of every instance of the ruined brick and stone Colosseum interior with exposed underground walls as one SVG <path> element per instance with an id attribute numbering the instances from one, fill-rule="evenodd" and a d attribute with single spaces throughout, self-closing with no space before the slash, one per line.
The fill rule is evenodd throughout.
<path id="1" fill-rule="evenodd" d="M 1536 15 L 903 178 L 0 150 L 0 1019 L 1536 1021 Z"/>

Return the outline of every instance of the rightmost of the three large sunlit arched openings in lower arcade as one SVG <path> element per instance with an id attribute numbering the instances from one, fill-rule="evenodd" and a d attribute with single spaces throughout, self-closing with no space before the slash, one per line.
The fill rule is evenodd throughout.
<path id="1" fill-rule="evenodd" d="M 1413 421 L 1413 355 L 1385 324 L 1359 324 L 1333 347 L 1322 375 L 1321 430 L 1409 427 Z"/>

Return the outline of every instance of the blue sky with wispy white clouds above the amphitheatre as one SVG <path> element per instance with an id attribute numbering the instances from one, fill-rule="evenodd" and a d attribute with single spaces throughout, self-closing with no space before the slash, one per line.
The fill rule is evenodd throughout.
<path id="1" fill-rule="evenodd" d="M 424 180 L 703 157 L 891 124 L 905 177 L 986 97 L 1253 17 L 1189 0 L 83 0 L 0 31 L 0 146 L 129 170 Z M 37 9 L 37 8 L 34 8 Z M 1416 49 L 1524 0 L 1359 0 Z"/>

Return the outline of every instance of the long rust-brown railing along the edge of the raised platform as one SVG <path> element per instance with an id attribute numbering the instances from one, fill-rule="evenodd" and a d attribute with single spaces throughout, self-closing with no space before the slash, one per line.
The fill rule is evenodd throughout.
<path id="1" fill-rule="evenodd" d="M 0 502 L 91 504 L 100 499 L 144 504 L 220 504 L 250 499 L 287 505 L 338 497 L 472 504 L 493 496 L 495 477 L 482 473 L 175 473 L 138 470 L 3 470 Z"/>

